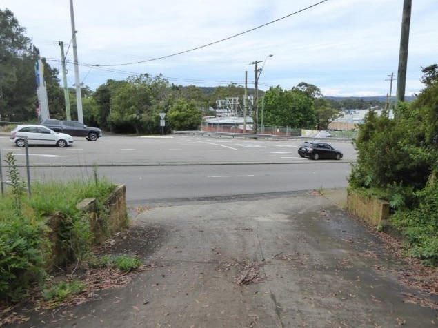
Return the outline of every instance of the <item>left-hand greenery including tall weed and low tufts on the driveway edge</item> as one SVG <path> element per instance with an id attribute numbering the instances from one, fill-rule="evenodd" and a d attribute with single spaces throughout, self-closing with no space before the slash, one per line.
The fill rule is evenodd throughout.
<path id="1" fill-rule="evenodd" d="M 103 202 L 115 185 L 99 178 L 95 167 L 94 174 L 81 181 L 32 183 L 29 197 L 14 155 L 6 154 L 4 161 L 10 187 L 6 187 L 0 198 L 0 304 L 17 302 L 35 290 L 39 290 L 43 298 L 55 300 L 81 291 L 83 284 L 74 280 L 50 283 L 52 249 L 58 247 L 58 252 L 63 254 L 62 262 L 57 263 L 61 267 L 72 261 L 92 263 L 90 266 L 96 263 L 90 254 L 93 240 L 88 215 L 80 212 L 76 205 L 84 198 L 96 198 L 99 218 L 107 221 Z M 61 218 L 57 221 L 56 245 L 50 238 L 52 216 Z M 141 264 L 129 256 L 106 258 L 99 263 L 121 271 Z"/>

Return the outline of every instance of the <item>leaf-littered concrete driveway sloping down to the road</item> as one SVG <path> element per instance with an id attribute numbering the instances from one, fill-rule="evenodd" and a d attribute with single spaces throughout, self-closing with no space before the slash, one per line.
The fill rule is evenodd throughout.
<path id="1" fill-rule="evenodd" d="M 436 299 L 402 284 L 406 263 L 335 203 L 299 193 L 146 209 L 112 246 L 145 271 L 17 327 L 435 327 Z"/>

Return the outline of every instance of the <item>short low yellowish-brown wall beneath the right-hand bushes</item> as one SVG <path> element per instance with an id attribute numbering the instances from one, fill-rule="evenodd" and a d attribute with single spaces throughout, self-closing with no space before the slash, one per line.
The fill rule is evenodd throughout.
<path id="1" fill-rule="evenodd" d="M 378 198 L 366 198 L 352 189 L 348 189 L 347 209 L 364 219 L 372 227 L 384 225 L 390 214 L 387 201 Z"/>

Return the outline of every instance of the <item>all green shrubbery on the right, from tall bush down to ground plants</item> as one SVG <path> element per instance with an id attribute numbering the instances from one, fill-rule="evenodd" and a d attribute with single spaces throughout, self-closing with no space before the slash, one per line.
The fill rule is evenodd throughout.
<path id="1" fill-rule="evenodd" d="M 369 112 L 355 139 L 350 187 L 390 203 L 406 254 L 438 265 L 438 65 L 422 70 L 424 90 L 395 118 Z"/>

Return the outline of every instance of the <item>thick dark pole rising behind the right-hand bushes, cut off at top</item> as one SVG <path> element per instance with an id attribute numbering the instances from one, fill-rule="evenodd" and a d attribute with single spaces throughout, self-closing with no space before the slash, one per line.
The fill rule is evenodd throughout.
<path id="1" fill-rule="evenodd" d="M 399 52 L 399 70 L 397 73 L 397 102 L 404 101 L 406 92 L 406 70 L 408 66 L 408 46 L 409 46 L 409 28 L 410 28 L 410 12 L 412 8 L 412 0 L 404 0 L 403 17 L 401 19 L 401 37 L 400 37 L 400 52 Z"/>

